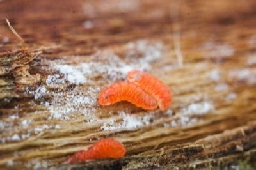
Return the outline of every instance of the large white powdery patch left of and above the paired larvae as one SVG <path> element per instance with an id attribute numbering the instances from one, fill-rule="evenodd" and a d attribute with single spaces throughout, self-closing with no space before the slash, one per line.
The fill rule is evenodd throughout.
<path id="1" fill-rule="evenodd" d="M 50 68 L 54 74 L 48 75 L 45 80 L 47 86 L 39 86 L 35 91 L 27 92 L 33 94 L 35 99 L 52 97 L 51 101 L 42 101 L 41 104 L 51 112 L 49 119 L 69 119 L 73 113 L 84 114 L 88 118 L 95 119 L 93 112 L 97 105 L 97 96 L 100 88 L 98 86 L 79 89 L 79 85 L 90 85 L 91 82 L 99 80 L 110 82 L 124 79 L 131 70 L 148 70 L 150 64 L 161 59 L 163 44 L 152 43 L 147 40 L 138 40 L 126 45 L 125 56 L 120 58 L 111 52 L 97 52 L 92 56 L 93 61 L 81 62 L 67 65 L 65 61 L 51 61 Z M 76 57 L 76 56 L 74 56 Z M 78 57 L 78 56 L 77 56 Z M 99 61 L 100 60 L 100 61 Z M 52 90 L 63 84 L 75 84 L 75 88 L 63 91 Z M 65 86 L 64 86 L 65 87 Z M 74 86 L 72 86 L 74 87 Z M 82 92 L 81 92 L 82 91 Z"/>

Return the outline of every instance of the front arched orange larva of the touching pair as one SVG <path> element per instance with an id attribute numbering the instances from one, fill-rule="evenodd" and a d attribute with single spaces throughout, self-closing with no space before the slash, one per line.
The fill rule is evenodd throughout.
<path id="1" fill-rule="evenodd" d="M 128 101 L 143 109 L 156 109 L 157 101 L 132 82 L 117 82 L 102 90 L 98 102 L 100 105 L 111 105 Z"/>

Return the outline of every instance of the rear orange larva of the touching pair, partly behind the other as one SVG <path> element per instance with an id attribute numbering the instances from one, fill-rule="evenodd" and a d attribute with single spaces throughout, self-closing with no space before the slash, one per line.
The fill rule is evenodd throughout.
<path id="1" fill-rule="evenodd" d="M 147 72 L 138 70 L 127 74 L 127 79 L 139 86 L 143 91 L 156 98 L 159 108 L 163 111 L 172 103 L 172 92 L 162 81 Z"/>

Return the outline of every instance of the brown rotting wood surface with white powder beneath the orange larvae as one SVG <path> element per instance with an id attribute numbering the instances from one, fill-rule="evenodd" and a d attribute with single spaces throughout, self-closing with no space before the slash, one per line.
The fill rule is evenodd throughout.
<path id="1" fill-rule="evenodd" d="M 253 166 L 255 7 L 253 0 L 1 1 L 1 169 Z M 100 90 L 132 69 L 170 86 L 172 107 L 100 107 Z M 125 158 L 63 165 L 102 137 L 124 143 Z"/>

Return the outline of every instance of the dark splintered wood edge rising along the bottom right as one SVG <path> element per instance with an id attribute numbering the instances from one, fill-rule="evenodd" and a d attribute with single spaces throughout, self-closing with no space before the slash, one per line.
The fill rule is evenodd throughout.
<path id="1" fill-rule="evenodd" d="M 211 146 L 211 147 L 209 147 Z M 118 160 L 97 160 L 81 164 L 64 164 L 51 169 L 196 169 L 225 167 L 239 160 L 256 160 L 256 121 L 221 134 L 205 137 L 186 146 L 165 146 L 159 150 Z M 248 162 L 248 163 L 250 163 Z"/>

